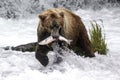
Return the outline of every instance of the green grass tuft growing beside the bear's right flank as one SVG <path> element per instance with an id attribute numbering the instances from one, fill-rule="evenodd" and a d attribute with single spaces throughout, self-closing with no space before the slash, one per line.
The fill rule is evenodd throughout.
<path id="1" fill-rule="evenodd" d="M 105 42 L 105 34 L 102 34 L 101 26 L 96 22 L 91 22 L 92 28 L 90 29 L 90 41 L 94 52 L 99 54 L 107 54 L 107 44 Z"/>

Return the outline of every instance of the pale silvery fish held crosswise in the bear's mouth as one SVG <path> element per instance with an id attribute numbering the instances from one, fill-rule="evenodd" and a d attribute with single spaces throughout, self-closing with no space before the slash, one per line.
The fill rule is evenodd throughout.
<path id="1" fill-rule="evenodd" d="M 69 45 L 70 45 L 70 43 L 71 43 L 71 41 L 72 41 L 72 40 L 66 39 L 66 38 L 63 37 L 63 36 L 59 36 L 58 39 L 55 39 L 55 38 L 53 38 L 52 36 L 49 36 L 48 38 L 40 41 L 38 44 L 39 44 L 39 45 L 47 45 L 47 44 L 50 44 L 50 43 L 52 43 L 53 41 L 56 41 L 56 40 L 65 41 L 65 42 L 66 42 L 67 44 L 69 44 Z"/>

